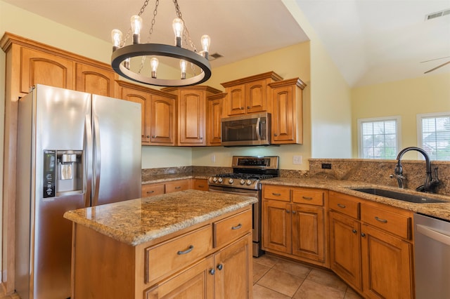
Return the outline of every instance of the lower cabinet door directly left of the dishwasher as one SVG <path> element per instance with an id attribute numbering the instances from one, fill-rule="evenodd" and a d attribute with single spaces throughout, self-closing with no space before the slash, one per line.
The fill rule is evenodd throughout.
<path id="1" fill-rule="evenodd" d="M 412 245 L 369 225 L 361 236 L 364 294 L 413 298 Z"/>

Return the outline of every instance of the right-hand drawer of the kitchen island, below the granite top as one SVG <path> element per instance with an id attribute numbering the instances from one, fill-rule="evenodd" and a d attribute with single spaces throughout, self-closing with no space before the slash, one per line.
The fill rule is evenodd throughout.
<path id="1" fill-rule="evenodd" d="M 252 210 L 214 222 L 214 247 L 220 247 L 252 230 Z"/>

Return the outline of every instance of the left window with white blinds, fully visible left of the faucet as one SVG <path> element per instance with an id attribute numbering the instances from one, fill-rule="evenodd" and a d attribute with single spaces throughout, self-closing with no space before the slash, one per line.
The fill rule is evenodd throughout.
<path id="1" fill-rule="evenodd" d="M 358 119 L 358 154 L 363 159 L 396 159 L 400 117 Z"/>

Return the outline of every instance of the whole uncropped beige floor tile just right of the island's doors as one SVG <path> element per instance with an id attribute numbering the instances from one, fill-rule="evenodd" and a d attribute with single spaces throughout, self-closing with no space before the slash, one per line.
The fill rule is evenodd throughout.
<path id="1" fill-rule="evenodd" d="M 303 280 L 301 277 L 296 277 L 293 274 L 271 269 L 264 277 L 259 279 L 257 284 L 292 297 Z"/>

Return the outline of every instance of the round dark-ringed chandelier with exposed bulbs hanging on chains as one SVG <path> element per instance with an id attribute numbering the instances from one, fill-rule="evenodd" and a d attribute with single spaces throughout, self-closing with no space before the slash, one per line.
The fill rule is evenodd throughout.
<path id="1" fill-rule="evenodd" d="M 195 45 L 191 41 L 191 36 L 184 24 L 181 11 L 177 0 L 173 0 L 175 6 L 176 17 L 172 22 L 172 28 L 175 34 L 175 46 L 166 44 L 141 44 L 141 33 L 143 32 L 142 13 L 145 11 L 149 0 L 145 0 L 139 11 L 139 14 L 131 17 L 131 28 L 122 39 L 122 32 L 119 29 L 113 29 L 111 38 L 113 39 L 113 54 L 111 55 L 111 66 L 120 76 L 132 81 L 149 84 L 154 86 L 190 86 L 201 84 L 211 77 L 211 66 L 208 61 L 208 52 L 210 47 L 210 36 L 203 35 L 200 39 L 202 50 L 197 51 Z M 148 40 L 153 32 L 155 25 L 155 17 L 158 13 L 159 0 L 155 1 L 155 10 L 153 11 L 153 19 L 148 32 Z M 131 35 L 132 34 L 132 35 Z M 131 44 L 126 44 L 127 40 L 132 36 Z M 183 48 L 182 40 L 186 41 L 187 46 L 191 48 Z M 158 57 L 162 56 L 179 60 L 180 73 L 179 77 L 160 78 L 158 77 Z M 137 66 L 131 67 L 131 58 L 137 61 Z M 144 64 L 146 60 L 150 62 L 150 71 L 143 74 Z M 148 63 L 148 62 L 147 62 Z M 135 70 L 133 70 L 135 69 Z M 187 72 L 189 69 L 189 72 Z"/>

